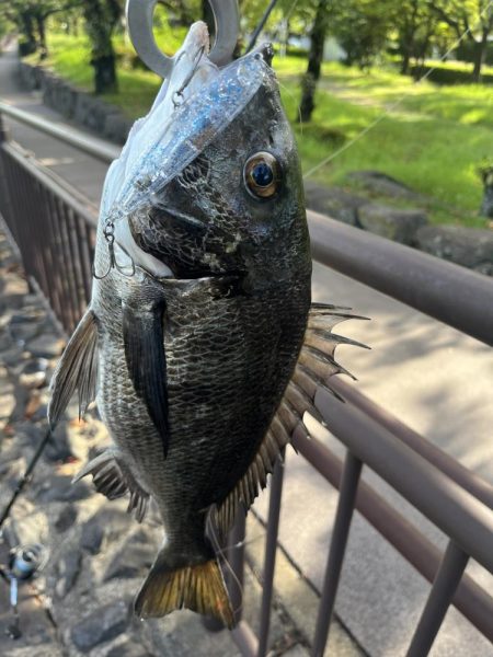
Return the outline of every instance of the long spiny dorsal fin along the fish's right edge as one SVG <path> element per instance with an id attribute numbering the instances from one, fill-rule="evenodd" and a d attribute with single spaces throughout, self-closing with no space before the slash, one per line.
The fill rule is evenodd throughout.
<path id="1" fill-rule="evenodd" d="M 259 493 L 265 488 L 267 475 L 274 471 L 276 459 L 290 442 L 295 428 L 301 427 L 307 433 L 302 424 L 305 413 L 308 412 L 316 419 L 322 420 L 319 411 L 313 405 L 317 388 L 322 387 L 341 399 L 336 392 L 330 389 L 328 379 L 337 373 L 352 374 L 334 359 L 337 345 L 346 344 L 368 348 L 366 345 L 331 332 L 336 324 L 345 320 L 367 319 L 351 314 L 348 310 L 323 303 L 313 304 L 310 309 L 298 364 L 271 427 L 244 475 L 214 510 L 216 525 L 223 535 L 231 529 L 239 507 L 243 507 L 246 512 Z"/>

